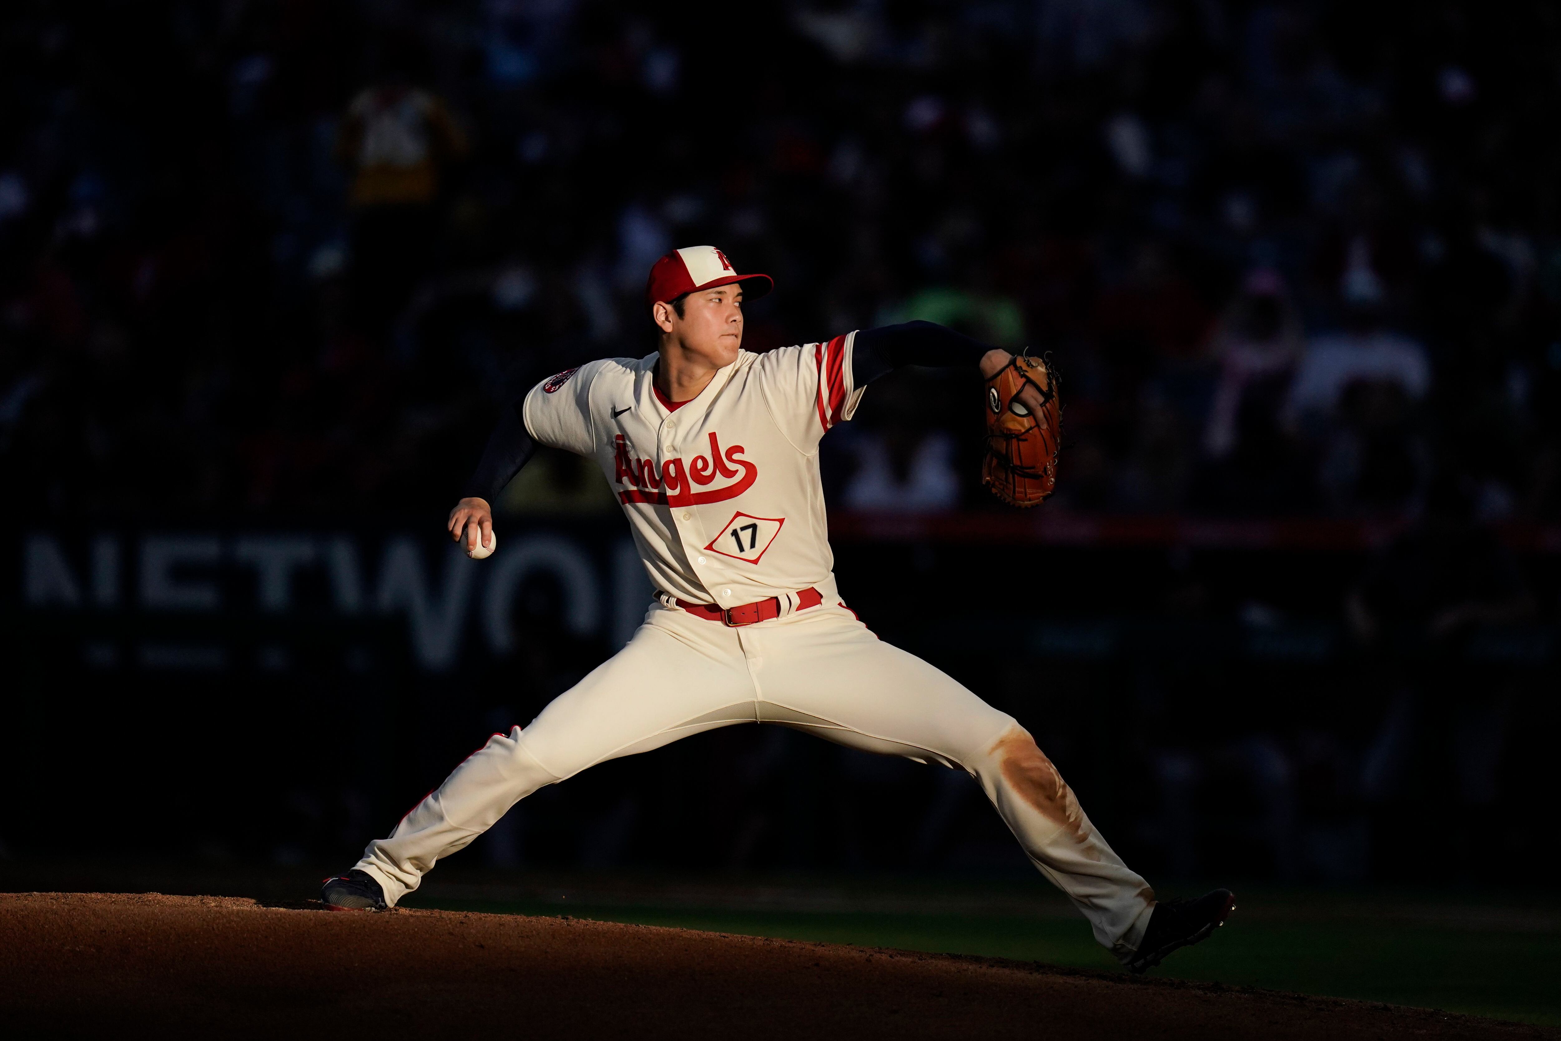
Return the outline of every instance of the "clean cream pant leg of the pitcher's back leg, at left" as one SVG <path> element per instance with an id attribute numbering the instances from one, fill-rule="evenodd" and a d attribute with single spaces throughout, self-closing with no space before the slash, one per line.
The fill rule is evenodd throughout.
<path id="1" fill-rule="evenodd" d="M 651 609 L 618 654 L 524 729 L 495 734 L 357 862 L 395 905 L 440 857 L 465 847 L 520 799 L 607 759 L 752 723 L 754 682 L 732 629 Z"/>

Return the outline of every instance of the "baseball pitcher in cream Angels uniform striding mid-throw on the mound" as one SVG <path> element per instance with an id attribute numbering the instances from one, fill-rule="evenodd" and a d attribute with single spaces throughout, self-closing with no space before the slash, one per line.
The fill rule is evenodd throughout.
<path id="1" fill-rule="evenodd" d="M 752 354 L 741 350 L 743 301 L 771 287 L 713 247 L 668 253 L 645 293 L 660 329 L 654 354 L 562 371 L 506 410 L 450 513 L 451 537 L 487 556 L 489 504 L 535 445 L 579 453 L 617 493 L 656 601 L 618 654 L 526 727 L 495 734 L 356 868 L 326 880 L 325 905 L 393 907 L 515 802 L 588 766 L 774 723 L 969 773 L 1037 869 L 1135 972 L 1208 936 L 1235 907 L 1227 890 L 1157 902 L 1018 721 L 879 640 L 835 588 L 818 445 L 874 379 L 902 365 L 979 367 L 983 481 L 1030 506 L 1057 476 L 1052 373 L 926 322 Z"/>

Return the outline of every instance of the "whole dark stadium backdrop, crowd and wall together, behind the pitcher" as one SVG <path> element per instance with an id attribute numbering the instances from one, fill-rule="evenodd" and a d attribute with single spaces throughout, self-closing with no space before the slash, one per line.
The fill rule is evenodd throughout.
<path id="1" fill-rule="evenodd" d="M 752 350 L 1049 353 L 1055 499 L 979 487 L 974 373 L 899 373 L 824 442 L 837 570 L 1140 871 L 1534 883 L 1558 126 L 1544 3 L 6 5 L 0 851 L 343 869 L 612 652 L 648 590 L 595 476 L 540 457 L 482 565 L 440 526 L 507 395 L 652 350 L 651 261 L 710 242 L 776 276 Z M 963 774 L 768 727 L 462 863 L 1030 871 Z"/>

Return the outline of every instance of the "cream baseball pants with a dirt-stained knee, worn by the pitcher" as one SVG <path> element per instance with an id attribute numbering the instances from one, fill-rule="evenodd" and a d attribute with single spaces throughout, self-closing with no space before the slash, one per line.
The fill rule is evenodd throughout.
<path id="1" fill-rule="evenodd" d="M 587 766 L 734 723 L 777 723 L 851 748 L 968 771 L 1035 866 L 1118 957 L 1135 950 L 1154 891 L 1111 852 L 1072 790 L 1007 713 L 824 602 L 729 629 L 656 604 L 618 654 L 524 729 L 495 734 L 368 844 L 357 868 L 392 905 L 440 857 L 520 799 Z"/>

